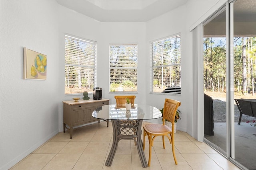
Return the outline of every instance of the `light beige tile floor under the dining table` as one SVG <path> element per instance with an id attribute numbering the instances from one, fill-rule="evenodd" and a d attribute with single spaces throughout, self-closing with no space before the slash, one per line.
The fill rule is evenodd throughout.
<path id="1" fill-rule="evenodd" d="M 146 122 L 144 122 L 146 123 Z M 175 153 L 178 165 L 175 165 L 171 145 L 166 138 L 166 149 L 162 147 L 162 138 L 154 141 L 151 166 L 142 168 L 138 151 L 133 140 L 121 140 L 111 166 L 105 166 L 106 158 L 112 146 L 112 124 L 94 123 L 73 131 L 58 133 L 41 147 L 18 162 L 10 170 L 238 170 L 234 164 L 209 147 L 196 141 L 185 132 L 174 135 Z M 143 137 L 142 137 L 143 138 Z M 148 158 L 148 140 L 146 138 L 146 158 Z"/>

